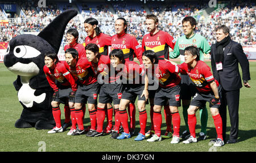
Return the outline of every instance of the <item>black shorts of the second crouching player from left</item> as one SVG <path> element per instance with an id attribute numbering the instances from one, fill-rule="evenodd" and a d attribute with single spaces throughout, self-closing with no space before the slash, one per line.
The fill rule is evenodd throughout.
<path id="1" fill-rule="evenodd" d="M 76 91 L 75 102 L 81 104 L 95 104 L 97 105 L 98 92 L 100 91 L 100 84 L 96 81 L 89 85 L 79 85 Z"/>

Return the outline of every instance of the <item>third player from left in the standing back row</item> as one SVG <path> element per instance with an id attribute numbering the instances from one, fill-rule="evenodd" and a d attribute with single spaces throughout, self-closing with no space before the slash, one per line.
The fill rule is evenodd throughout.
<path id="1" fill-rule="evenodd" d="M 139 63 L 142 65 L 142 49 L 138 41 L 134 36 L 127 34 L 127 22 L 124 18 L 118 18 L 115 20 L 115 32 L 116 35 L 112 36 L 111 46 L 113 49 L 122 49 L 123 55 L 126 61 L 133 61 L 134 53 L 139 60 Z M 128 106 L 128 111 L 130 115 L 130 129 L 131 135 L 134 133 L 135 128 L 135 100 L 132 100 Z"/>

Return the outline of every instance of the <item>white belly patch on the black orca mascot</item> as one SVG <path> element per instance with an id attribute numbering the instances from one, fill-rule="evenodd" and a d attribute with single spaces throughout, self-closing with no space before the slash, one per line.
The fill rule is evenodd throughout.
<path id="1" fill-rule="evenodd" d="M 27 108 L 31 108 L 33 106 L 33 102 L 40 104 L 46 98 L 46 93 L 42 93 L 42 95 L 35 96 L 34 93 L 36 89 L 32 89 L 28 83 L 31 77 L 21 76 L 22 87 L 19 89 L 18 98 L 19 101 L 22 102 Z"/>

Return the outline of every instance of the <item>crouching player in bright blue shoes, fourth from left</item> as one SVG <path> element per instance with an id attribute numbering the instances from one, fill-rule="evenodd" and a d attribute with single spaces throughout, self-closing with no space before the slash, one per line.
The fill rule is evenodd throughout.
<path id="1" fill-rule="evenodd" d="M 139 124 L 141 125 L 141 131 L 134 140 L 143 140 L 145 139 L 145 129 L 147 123 L 145 105 L 148 98 L 148 81 L 145 76 L 146 74 L 144 73 L 143 67 L 139 66 L 138 63 L 126 61 L 121 49 L 113 49 L 109 57 L 115 71 L 117 71 L 119 75 L 122 75 L 122 84 L 125 84 L 118 113 L 118 119 L 121 121 L 124 132 L 122 132 L 117 139 L 128 139 L 131 137 L 126 108 L 134 97 L 138 96 Z M 142 84 L 143 79 L 144 84 Z"/>

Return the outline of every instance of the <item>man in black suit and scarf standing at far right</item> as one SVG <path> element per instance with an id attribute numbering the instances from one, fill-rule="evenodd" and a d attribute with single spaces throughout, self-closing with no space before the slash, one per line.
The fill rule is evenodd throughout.
<path id="1" fill-rule="evenodd" d="M 236 143 L 238 138 L 238 107 L 240 88 L 242 88 L 238 62 L 242 68 L 243 85 L 250 88 L 249 62 L 241 44 L 231 40 L 228 27 L 220 25 L 215 32 L 217 42 L 210 48 L 211 64 L 213 76 L 222 87 L 220 115 L 223 139 L 224 141 L 226 139 L 226 105 L 228 105 L 231 129 L 226 143 L 231 144 Z"/>

